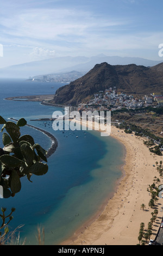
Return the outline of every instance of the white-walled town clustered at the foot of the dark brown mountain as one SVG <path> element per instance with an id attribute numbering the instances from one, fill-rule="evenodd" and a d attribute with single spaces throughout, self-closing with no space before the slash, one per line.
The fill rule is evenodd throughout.
<path id="1" fill-rule="evenodd" d="M 79 103 L 78 111 L 93 111 L 94 109 L 99 111 L 107 111 L 108 109 L 114 111 L 122 108 L 156 107 L 160 105 L 163 105 L 163 95 L 160 92 L 143 95 L 139 99 L 137 96 L 134 97 L 123 92 L 117 92 L 116 87 L 110 87 L 94 94 L 89 102 Z"/>

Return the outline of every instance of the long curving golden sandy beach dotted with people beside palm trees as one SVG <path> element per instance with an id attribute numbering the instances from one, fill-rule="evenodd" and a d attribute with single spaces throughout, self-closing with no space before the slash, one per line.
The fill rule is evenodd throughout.
<path id="1" fill-rule="evenodd" d="M 151 220 L 151 212 L 154 209 L 148 206 L 151 194 L 147 188 L 153 184 L 154 176 L 162 182 L 155 162 L 163 160 L 163 156 L 151 153 L 143 144 L 145 138 L 127 134 L 115 126 L 111 126 L 110 136 L 118 139 L 126 147 L 123 178 L 114 196 L 108 199 L 108 203 L 96 220 L 87 225 L 84 231 L 80 231 L 76 239 L 74 237 L 78 233 L 74 234 L 73 240 L 67 240 L 62 243 L 63 245 L 136 245 L 139 243 L 137 237 L 140 223 L 145 223 L 146 229 Z M 156 203 L 158 215 L 153 223 L 151 239 L 155 238 L 159 230 L 162 203 L 163 199 L 159 198 Z M 145 204 L 145 210 L 141 209 L 142 204 Z"/>

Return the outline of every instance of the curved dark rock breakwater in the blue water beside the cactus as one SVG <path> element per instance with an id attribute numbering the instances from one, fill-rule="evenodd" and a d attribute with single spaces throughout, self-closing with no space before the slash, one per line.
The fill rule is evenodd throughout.
<path id="1" fill-rule="evenodd" d="M 18 120 L 15 119 L 15 118 L 10 118 L 10 120 L 18 121 Z M 31 127 L 31 128 L 33 128 L 33 129 L 35 129 L 35 130 L 38 130 L 38 131 L 44 133 L 46 136 L 48 136 L 48 137 L 51 139 L 52 144 L 51 144 L 51 147 L 47 150 L 46 157 L 48 158 L 49 156 L 51 156 L 51 155 L 55 152 L 55 150 L 57 149 L 57 147 L 58 147 L 58 141 L 57 141 L 57 139 L 56 139 L 50 132 L 48 132 L 48 131 L 45 131 L 45 130 L 43 130 L 43 129 L 40 129 L 39 127 L 36 127 L 36 126 L 34 126 L 34 125 L 30 125 L 30 124 L 26 124 L 26 125 L 29 126 L 29 127 Z"/>

